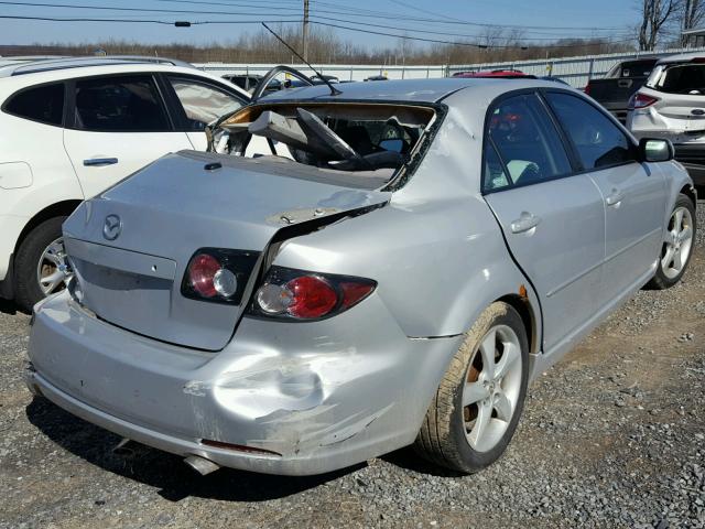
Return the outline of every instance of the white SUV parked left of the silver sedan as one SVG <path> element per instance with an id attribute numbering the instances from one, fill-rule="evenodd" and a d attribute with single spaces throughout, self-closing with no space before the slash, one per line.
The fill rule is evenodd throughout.
<path id="1" fill-rule="evenodd" d="M 169 152 L 206 150 L 206 123 L 249 100 L 154 57 L 0 64 L 0 298 L 30 310 L 63 288 L 66 216 Z"/>

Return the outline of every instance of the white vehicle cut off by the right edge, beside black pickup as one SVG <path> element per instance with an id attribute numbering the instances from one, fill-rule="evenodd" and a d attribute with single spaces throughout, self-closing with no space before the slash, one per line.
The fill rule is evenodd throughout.
<path id="1" fill-rule="evenodd" d="M 675 159 L 705 185 L 705 54 L 660 60 L 629 101 L 627 128 L 639 139 L 671 140 Z"/>

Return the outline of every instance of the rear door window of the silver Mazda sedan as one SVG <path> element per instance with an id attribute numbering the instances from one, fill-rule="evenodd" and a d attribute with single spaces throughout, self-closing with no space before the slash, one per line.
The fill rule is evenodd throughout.
<path id="1" fill-rule="evenodd" d="M 497 105 L 489 115 L 488 134 L 509 172 L 503 176 L 509 176 L 514 185 L 539 183 L 572 172 L 561 138 L 534 94 L 510 97 Z M 485 183 L 496 182 L 498 185 L 492 186 L 502 187 L 502 176 L 495 173 L 491 176 L 486 173 Z"/>

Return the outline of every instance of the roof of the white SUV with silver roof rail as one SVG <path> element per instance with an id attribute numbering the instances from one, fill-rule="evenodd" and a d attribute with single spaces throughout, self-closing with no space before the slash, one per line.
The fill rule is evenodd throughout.
<path id="1" fill-rule="evenodd" d="M 165 64 L 194 68 L 193 65 L 174 58 L 151 57 L 140 55 L 112 55 L 105 57 L 3 57 L 0 60 L 0 77 L 14 77 L 18 75 L 36 74 L 68 68 L 87 68 L 91 66 L 119 66 L 134 64 Z M 3 64 L 4 63 L 4 64 Z"/>

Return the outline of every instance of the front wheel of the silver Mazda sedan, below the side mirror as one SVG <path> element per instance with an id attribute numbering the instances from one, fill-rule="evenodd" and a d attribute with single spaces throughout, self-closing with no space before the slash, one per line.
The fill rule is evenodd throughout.
<path id="1" fill-rule="evenodd" d="M 681 281 L 693 256 L 695 233 L 697 230 L 693 202 L 686 195 L 680 194 L 669 216 L 666 240 L 663 241 L 661 253 L 659 255 L 657 271 L 651 281 L 647 283 L 647 289 L 670 289 Z M 674 256 L 677 256 L 679 259 L 677 267 L 675 266 Z"/>

